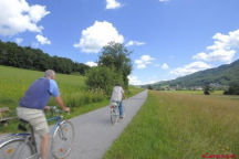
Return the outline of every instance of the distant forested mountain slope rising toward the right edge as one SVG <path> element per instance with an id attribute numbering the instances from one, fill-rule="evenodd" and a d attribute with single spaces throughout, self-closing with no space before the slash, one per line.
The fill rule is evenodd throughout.
<path id="1" fill-rule="evenodd" d="M 176 80 L 150 84 L 150 86 L 153 88 L 160 85 L 190 87 L 202 86 L 208 83 L 217 83 L 220 85 L 239 83 L 239 60 L 235 61 L 231 64 L 225 64 L 216 68 L 196 72 L 194 74 L 178 77 Z M 147 86 L 148 85 L 142 85 L 142 87 Z"/>

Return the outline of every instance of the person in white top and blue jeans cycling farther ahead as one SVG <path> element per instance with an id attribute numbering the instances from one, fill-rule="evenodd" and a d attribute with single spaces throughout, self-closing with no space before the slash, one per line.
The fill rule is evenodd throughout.
<path id="1" fill-rule="evenodd" d="M 119 103 L 118 104 L 119 118 L 123 118 L 122 97 L 126 98 L 124 89 L 122 88 L 119 83 L 116 83 L 113 88 L 111 100 Z"/>

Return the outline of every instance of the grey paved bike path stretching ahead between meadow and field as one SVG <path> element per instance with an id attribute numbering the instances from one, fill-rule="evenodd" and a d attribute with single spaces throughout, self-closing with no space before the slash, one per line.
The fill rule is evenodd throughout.
<path id="1" fill-rule="evenodd" d="M 101 159 L 147 98 L 144 91 L 123 100 L 126 117 L 112 125 L 110 106 L 70 119 L 75 128 L 74 146 L 66 159 Z"/>

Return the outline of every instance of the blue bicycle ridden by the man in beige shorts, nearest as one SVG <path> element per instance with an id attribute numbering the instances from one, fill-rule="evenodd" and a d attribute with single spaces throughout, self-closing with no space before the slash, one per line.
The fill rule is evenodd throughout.
<path id="1" fill-rule="evenodd" d="M 55 120 L 51 135 L 51 151 L 54 158 L 65 158 L 73 146 L 74 127 L 71 121 L 63 120 L 61 113 L 63 110 L 51 106 L 51 112 L 56 113 L 55 117 L 51 117 L 48 121 Z M 39 159 L 35 137 L 33 128 L 28 121 L 19 119 L 21 124 L 19 129 L 27 130 L 25 125 L 30 127 L 30 132 L 11 134 L 0 139 L 0 159 Z"/>

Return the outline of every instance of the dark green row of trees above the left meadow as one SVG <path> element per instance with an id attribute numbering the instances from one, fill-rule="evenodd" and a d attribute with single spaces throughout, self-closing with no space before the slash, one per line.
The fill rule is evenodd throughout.
<path id="1" fill-rule="evenodd" d="M 84 75 L 91 67 L 73 62 L 66 57 L 50 56 L 40 49 L 19 46 L 14 42 L 2 42 L 0 40 L 0 65 L 14 66 L 20 68 L 45 71 L 52 68 L 62 74 Z"/>

